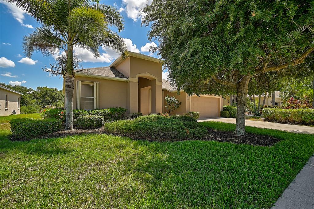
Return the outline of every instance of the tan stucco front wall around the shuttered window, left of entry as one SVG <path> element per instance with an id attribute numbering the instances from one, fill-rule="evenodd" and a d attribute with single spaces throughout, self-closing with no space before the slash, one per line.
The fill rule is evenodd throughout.
<path id="1" fill-rule="evenodd" d="M 73 108 L 76 106 L 76 84 L 77 80 L 99 82 L 99 108 L 106 109 L 109 107 L 124 107 L 126 106 L 127 98 L 127 83 L 124 81 L 104 80 L 98 78 L 76 76 L 74 79 L 74 94 Z"/>

